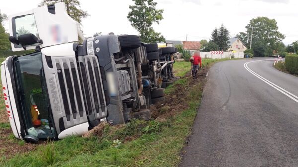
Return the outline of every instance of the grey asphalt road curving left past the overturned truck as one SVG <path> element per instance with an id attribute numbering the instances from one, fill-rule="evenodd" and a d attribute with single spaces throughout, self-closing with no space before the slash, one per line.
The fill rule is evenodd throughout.
<path id="1" fill-rule="evenodd" d="M 181 167 L 298 167 L 298 77 L 273 60 L 210 68 Z"/>

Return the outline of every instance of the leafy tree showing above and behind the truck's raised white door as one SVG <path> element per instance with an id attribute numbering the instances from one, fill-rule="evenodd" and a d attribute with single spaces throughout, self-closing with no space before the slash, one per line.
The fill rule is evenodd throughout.
<path id="1" fill-rule="evenodd" d="M 63 2 L 65 4 L 67 14 L 79 24 L 81 24 L 82 18 L 89 16 L 87 11 L 79 8 L 79 0 L 42 0 L 40 5 L 52 5 L 58 2 Z"/>

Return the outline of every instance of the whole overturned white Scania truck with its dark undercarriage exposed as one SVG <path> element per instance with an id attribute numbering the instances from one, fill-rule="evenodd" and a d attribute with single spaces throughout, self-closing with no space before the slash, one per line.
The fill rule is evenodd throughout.
<path id="1" fill-rule="evenodd" d="M 82 135 L 102 121 L 116 125 L 132 118 L 149 120 L 150 105 L 164 99 L 166 65 L 160 63 L 157 44 L 142 43 L 135 35 L 85 39 L 63 3 L 9 16 L 9 24 L 13 51 L 35 50 L 1 64 L 16 138 L 63 139 Z"/>

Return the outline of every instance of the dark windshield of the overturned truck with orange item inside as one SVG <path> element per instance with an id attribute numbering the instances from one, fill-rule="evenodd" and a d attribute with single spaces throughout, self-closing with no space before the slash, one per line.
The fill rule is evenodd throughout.
<path id="1" fill-rule="evenodd" d="M 41 52 L 16 57 L 13 66 L 24 128 L 28 134 L 34 128 L 40 139 L 54 137 Z"/>

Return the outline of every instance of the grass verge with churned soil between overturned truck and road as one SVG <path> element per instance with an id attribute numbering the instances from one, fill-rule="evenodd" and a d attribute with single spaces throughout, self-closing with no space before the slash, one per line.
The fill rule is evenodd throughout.
<path id="1" fill-rule="evenodd" d="M 200 104 L 205 83 L 204 72 L 216 61 L 204 59 L 206 68 L 200 71 L 201 78 L 197 80 L 187 76 L 189 62 L 176 62 L 174 70 L 181 79 L 166 89 L 167 100 L 160 105 L 177 104 L 177 107 L 155 120 L 133 120 L 120 126 L 101 124 L 88 137 L 70 136 L 38 145 L 32 151 L 11 158 L 2 156 L 0 166 L 177 167 Z M 2 126 L 6 128 L 5 124 Z"/>

